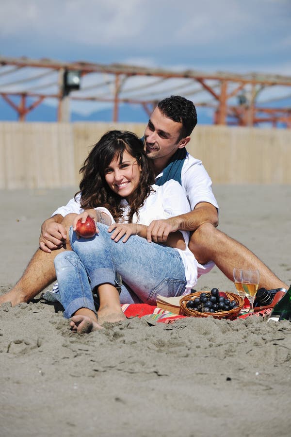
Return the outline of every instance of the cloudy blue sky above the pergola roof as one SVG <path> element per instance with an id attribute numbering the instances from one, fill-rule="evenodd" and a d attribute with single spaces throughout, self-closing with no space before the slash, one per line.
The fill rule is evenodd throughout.
<path id="1" fill-rule="evenodd" d="M 0 0 L 0 55 L 291 76 L 291 0 Z"/>

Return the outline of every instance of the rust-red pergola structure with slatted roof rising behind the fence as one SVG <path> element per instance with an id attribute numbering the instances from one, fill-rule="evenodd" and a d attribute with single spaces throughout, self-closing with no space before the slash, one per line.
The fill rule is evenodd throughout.
<path id="1" fill-rule="evenodd" d="M 16 69 L 23 69 L 24 67 L 30 67 L 29 70 L 24 70 L 27 74 L 30 73 L 29 77 L 17 77 L 14 81 L 7 81 L 6 84 L 0 85 L 0 95 L 10 104 L 19 114 L 19 118 L 24 119 L 27 113 L 27 109 L 25 107 L 26 98 L 33 97 L 36 98 L 40 103 L 46 98 L 55 98 L 59 101 L 59 120 L 68 121 L 69 120 L 69 100 L 79 100 L 79 101 L 102 101 L 102 102 L 110 102 L 113 104 L 113 120 L 118 120 L 118 107 L 120 103 L 134 103 L 141 104 L 146 110 L 146 113 L 149 113 L 149 107 L 154 105 L 160 97 L 160 99 L 166 97 L 166 95 L 174 94 L 178 89 L 182 89 L 189 85 L 189 81 L 199 86 L 199 88 L 194 88 L 193 90 L 189 90 L 188 92 L 183 93 L 184 97 L 188 97 L 191 100 L 194 99 L 194 95 L 204 91 L 204 93 L 208 93 L 209 99 L 204 99 L 201 102 L 195 102 L 196 106 L 204 106 L 209 108 L 216 109 L 215 115 L 215 123 L 219 124 L 229 124 L 229 117 L 234 117 L 240 125 L 253 125 L 256 123 L 256 116 L 260 113 L 263 113 L 263 108 L 259 108 L 256 105 L 256 100 L 258 93 L 262 89 L 267 89 L 270 86 L 281 85 L 291 87 L 291 76 L 282 76 L 282 75 L 270 75 L 270 74 L 258 74 L 258 73 L 249 73 L 249 74 L 234 74 L 229 72 L 201 72 L 197 70 L 185 70 L 185 71 L 170 71 L 162 68 L 146 68 L 146 67 L 138 67 L 138 66 L 128 66 L 122 64 L 111 64 L 111 65 L 101 65 L 94 64 L 88 62 L 61 62 L 54 61 L 50 59 L 29 59 L 29 58 L 9 58 L 9 57 L 1 57 L 0 56 L 0 66 L 10 66 L 9 70 L 3 71 L 3 75 L 9 78 L 9 72 L 18 74 Z M 31 71 L 33 68 L 47 68 L 48 71 L 41 72 L 39 75 L 32 75 Z M 46 76 L 47 74 L 51 74 L 57 72 L 59 75 L 60 71 L 64 71 L 64 69 L 68 70 L 79 70 L 81 72 L 81 76 L 85 76 L 89 73 L 98 73 L 101 76 L 106 75 L 106 80 L 103 77 L 103 82 L 97 82 L 94 85 L 88 84 L 87 86 L 81 87 L 80 90 L 72 92 L 69 96 L 64 96 L 62 93 L 62 88 L 60 87 L 59 93 L 50 93 L 49 92 L 41 92 L 37 93 L 35 90 L 46 87 L 53 86 L 54 83 L 47 84 L 39 84 L 37 80 L 41 77 Z M 8 71 L 8 73 L 7 73 Z M 57 76 L 57 75 L 56 75 Z M 145 84 L 142 83 L 140 85 L 129 83 L 128 89 L 124 89 L 123 84 L 125 81 L 130 82 L 130 78 L 134 76 L 139 76 L 139 78 L 152 77 L 153 81 Z M 156 95 L 153 94 L 151 90 L 152 86 L 160 84 L 163 81 L 167 81 L 169 79 L 179 79 L 178 84 L 177 81 L 174 81 L 173 87 L 170 86 L 165 89 L 162 89 L 157 92 Z M 183 81 L 183 79 L 185 81 Z M 29 87 L 25 86 L 27 82 L 35 82 L 35 84 L 31 84 Z M 146 82 L 146 81 L 145 81 Z M 3 86 L 15 85 L 18 84 L 17 91 L 9 92 L 8 90 L 2 90 Z M 22 86 L 20 87 L 20 84 Z M 111 92 L 103 92 L 101 87 L 106 87 L 110 84 L 113 85 L 113 89 Z M 169 82 L 170 84 L 170 82 Z M 57 79 L 55 83 L 57 87 Z M 131 86 L 130 86 L 131 85 Z M 60 85 L 59 85 L 60 86 Z M 19 88 L 19 89 L 18 89 Z M 97 90 L 99 88 L 99 94 L 94 95 L 94 89 Z M 138 91 L 142 88 L 146 88 L 148 90 L 147 93 L 142 95 L 138 95 L 138 93 L 134 93 L 134 91 Z M 244 104 L 234 106 L 227 103 L 228 99 L 233 98 L 238 95 L 241 90 L 248 92 L 251 91 L 251 97 Z M 88 90 L 91 91 L 91 95 L 88 95 Z M 48 90 L 46 90 L 48 91 Z M 87 92 L 86 92 L 87 91 Z M 286 93 L 286 98 L 290 97 L 290 88 L 289 92 Z M 84 92 L 87 95 L 82 95 Z M 127 93 L 133 93 L 132 97 L 126 98 Z M 21 101 L 19 106 L 17 106 L 9 96 L 18 96 Z M 281 98 L 281 97 L 280 97 Z M 211 100 L 210 100 L 211 99 Z M 280 100 L 280 99 L 277 99 Z M 37 103 L 37 104 L 39 104 Z M 32 104 L 30 106 L 30 110 L 33 107 L 36 107 L 37 104 Z M 279 117 L 290 117 L 288 113 L 288 108 L 264 108 L 266 111 L 272 111 L 272 117 L 276 120 Z M 281 111 L 281 112 L 280 112 Z"/>

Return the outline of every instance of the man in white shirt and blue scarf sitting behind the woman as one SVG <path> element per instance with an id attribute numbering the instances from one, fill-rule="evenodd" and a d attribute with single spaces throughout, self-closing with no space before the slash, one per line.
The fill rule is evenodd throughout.
<path id="1" fill-rule="evenodd" d="M 157 184 L 176 179 L 184 188 L 192 211 L 167 220 L 154 220 L 148 227 L 147 240 L 163 242 L 170 232 L 193 231 L 189 248 L 198 263 L 198 277 L 215 264 L 228 279 L 233 280 L 235 266 L 259 269 L 260 284 L 267 289 L 287 288 L 259 258 L 238 241 L 216 227 L 218 205 L 211 189 L 211 180 L 201 161 L 189 155 L 185 146 L 197 124 L 192 101 L 180 96 L 162 100 L 153 111 L 145 131 L 145 148 L 156 174 Z M 54 258 L 65 250 L 65 215 L 79 213 L 80 205 L 69 202 L 44 221 L 39 247 L 22 277 L 0 303 L 16 305 L 28 302 L 55 280 Z"/>

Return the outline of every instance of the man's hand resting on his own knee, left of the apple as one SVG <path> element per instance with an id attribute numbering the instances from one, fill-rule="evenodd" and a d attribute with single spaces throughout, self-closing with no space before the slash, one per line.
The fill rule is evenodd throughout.
<path id="1" fill-rule="evenodd" d="M 42 251 L 50 253 L 66 244 L 66 229 L 53 217 L 45 220 L 41 226 L 39 247 Z"/>

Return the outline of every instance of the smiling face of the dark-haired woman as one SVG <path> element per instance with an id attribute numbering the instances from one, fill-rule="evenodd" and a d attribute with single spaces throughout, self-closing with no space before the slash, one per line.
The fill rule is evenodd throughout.
<path id="1" fill-rule="evenodd" d="M 140 165 L 126 150 L 123 152 L 122 162 L 120 156 L 116 156 L 104 170 L 105 180 L 112 191 L 126 198 L 128 202 L 139 185 L 140 173 Z"/>

